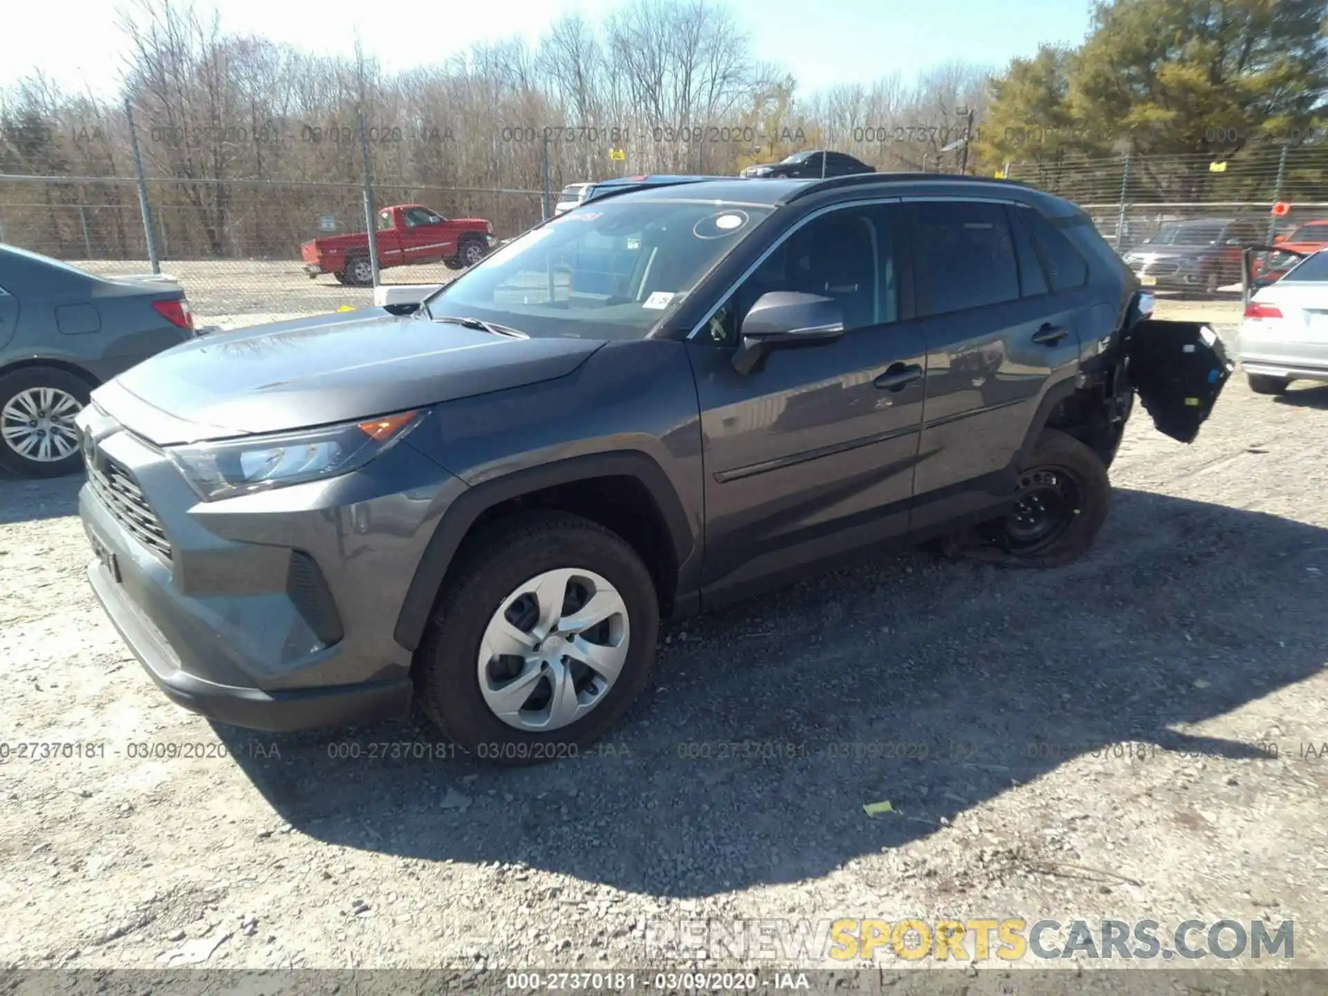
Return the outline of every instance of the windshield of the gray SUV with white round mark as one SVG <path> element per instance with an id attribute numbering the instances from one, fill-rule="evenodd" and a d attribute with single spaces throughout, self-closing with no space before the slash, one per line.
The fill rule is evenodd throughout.
<path id="1" fill-rule="evenodd" d="M 467 270 L 426 309 L 527 336 L 640 339 L 772 210 L 713 201 L 578 207 Z"/>

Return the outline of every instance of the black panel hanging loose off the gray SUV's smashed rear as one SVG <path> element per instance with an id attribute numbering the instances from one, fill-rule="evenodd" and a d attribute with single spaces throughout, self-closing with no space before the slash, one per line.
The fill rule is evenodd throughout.
<path id="1" fill-rule="evenodd" d="M 1194 442 L 1235 363 L 1201 321 L 1147 319 L 1126 340 L 1130 382 L 1158 432 Z"/>

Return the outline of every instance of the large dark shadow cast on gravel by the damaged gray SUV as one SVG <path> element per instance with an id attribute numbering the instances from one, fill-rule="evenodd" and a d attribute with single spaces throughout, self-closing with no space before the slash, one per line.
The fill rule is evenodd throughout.
<path id="1" fill-rule="evenodd" d="M 316 839 L 704 896 L 825 875 L 1076 758 L 1271 766 L 1263 730 L 1187 724 L 1320 671 L 1325 596 L 1328 530 L 1117 490 L 1064 570 L 882 556 L 673 624 L 647 701 L 551 765 L 456 758 L 424 722 L 218 733 Z"/>

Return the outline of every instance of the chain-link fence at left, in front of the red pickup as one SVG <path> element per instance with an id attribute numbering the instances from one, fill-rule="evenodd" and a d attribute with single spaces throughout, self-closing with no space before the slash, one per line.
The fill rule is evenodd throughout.
<path id="1" fill-rule="evenodd" d="M 364 307 L 372 290 L 309 279 L 300 246 L 363 232 L 360 183 L 279 181 L 145 183 L 162 272 L 177 278 L 198 320 L 223 327 Z M 420 203 L 444 218 L 482 218 L 498 239 L 540 220 L 543 193 L 463 190 L 393 183 L 374 186 L 376 207 Z M 0 177 L 0 242 L 41 252 L 94 274 L 151 270 L 133 178 Z M 445 283 L 441 263 L 384 268 L 381 283 Z"/>

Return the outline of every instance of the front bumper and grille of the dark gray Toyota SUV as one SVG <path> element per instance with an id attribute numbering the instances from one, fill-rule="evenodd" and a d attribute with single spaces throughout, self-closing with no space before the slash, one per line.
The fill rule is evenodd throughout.
<path id="1" fill-rule="evenodd" d="M 89 582 L 173 701 L 266 730 L 406 714 L 393 628 L 456 478 L 402 442 L 372 475 L 201 502 L 165 454 L 97 418 L 78 498 Z"/>

